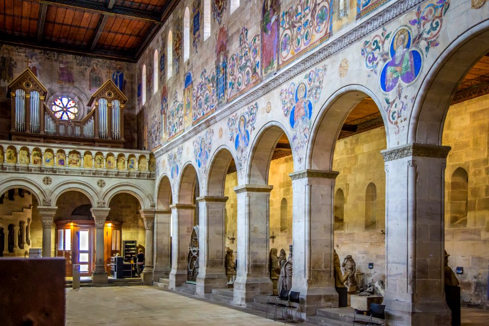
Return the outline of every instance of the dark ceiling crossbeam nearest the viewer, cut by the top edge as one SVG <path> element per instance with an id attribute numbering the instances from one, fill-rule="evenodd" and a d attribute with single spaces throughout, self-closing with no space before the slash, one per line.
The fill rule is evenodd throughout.
<path id="1" fill-rule="evenodd" d="M 94 12 L 104 15 L 121 16 L 129 19 L 140 19 L 152 21 L 156 24 L 161 24 L 160 14 L 149 11 L 129 9 L 125 7 L 114 6 L 108 8 L 105 4 L 93 2 L 90 0 L 40 0 L 40 4 L 66 7 L 71 9 Z M 110 5 L 110 3 L 108 3 Z"/>

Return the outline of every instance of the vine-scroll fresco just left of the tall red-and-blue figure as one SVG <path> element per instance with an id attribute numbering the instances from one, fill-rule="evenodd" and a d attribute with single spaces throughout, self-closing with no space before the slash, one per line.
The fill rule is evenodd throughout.
<path id="1" fill-rule="evenodd" d="M 215 76 L 207 75 L 205 69 L 200 74 L 200 83 L 194 87 L 193 100 L 192 123 L 196 124 L 212 114 L 217 105 Z"/>

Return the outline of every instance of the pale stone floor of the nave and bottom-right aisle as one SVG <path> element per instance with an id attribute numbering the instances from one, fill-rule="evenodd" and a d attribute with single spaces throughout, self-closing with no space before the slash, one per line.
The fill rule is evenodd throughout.
<path id="1" fill-rule="evenodd" d="M 273 320 L 151 286 L 66 290 L 66 325 L 271 325 Z M 462 326 L 483 326 L 489 311 L 462 308 Z M 276 323 L 275 323 L 276 324 Z M 303 323 L 302 325 L 306 325 Z"/>

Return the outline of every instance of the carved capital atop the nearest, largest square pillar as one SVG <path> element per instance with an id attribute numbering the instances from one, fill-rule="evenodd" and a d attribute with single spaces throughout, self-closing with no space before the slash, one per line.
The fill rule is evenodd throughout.
<path id="1" fill-rule="evenodd" d="M 409 143 L 406 145 L 389 148 L 381 151 L 384 156 L 384 161 L 392 161 L 404 157 L 420 156 L 431 158 L 447 158 L 448 152 L 452 148 L 450 146 L 430 145 Z"/>

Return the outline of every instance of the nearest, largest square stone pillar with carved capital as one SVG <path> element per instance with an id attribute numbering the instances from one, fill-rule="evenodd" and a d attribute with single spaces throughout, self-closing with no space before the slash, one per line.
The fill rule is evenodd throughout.
<path id="1" fill-rule="evenodd" d="M 450 147 L 382 151 L 386 170 L 386 317 L 389 325 L 450 325 L 444 284 L 445 165 Z"/>

